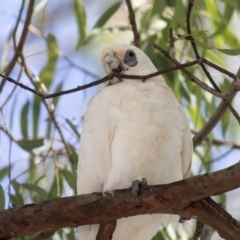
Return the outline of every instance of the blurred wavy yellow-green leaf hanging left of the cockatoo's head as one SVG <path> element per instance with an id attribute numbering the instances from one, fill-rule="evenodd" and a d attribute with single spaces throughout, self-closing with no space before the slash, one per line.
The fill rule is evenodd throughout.
<path id="1" fill-rule="evenodd" d="M 46 41 L 48 48 L 48 62 L 43 67 L 39 77 L 41 79 L 41 82 L 46 86 L 47 89 L 49 89 L 54 78 L 55 68 L 58 59 L 58 43 L 57 39 L 52 34 L 48 34 Z"/>

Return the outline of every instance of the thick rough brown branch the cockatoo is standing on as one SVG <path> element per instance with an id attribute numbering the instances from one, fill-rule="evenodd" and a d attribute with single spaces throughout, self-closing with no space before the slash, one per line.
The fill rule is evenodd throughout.
<path id="1" fill-rule="evenodd" d="M 135 200 L 131 189 L 110 193 L 92 193 L 30 204 L 0 213 L 0 239 L 62 227 L 108 223 L 116 219 L 147 213 L 195 215 L 201 222 L 225 236 L 226 228 L 202 215 L 193 203 L 240 187 L 240 163 L 167 185 L 150 186 Z M 61 211 L 59 211 L 61 209 Z M 184 210 L 185 209 L 185 210 Z M 226 218 L 221 214 L 222 217 Z M 228 231 L 240 238 L 238 226 L 227 222 Z M 236 238 L 228 238 L 236 239 Z"/>

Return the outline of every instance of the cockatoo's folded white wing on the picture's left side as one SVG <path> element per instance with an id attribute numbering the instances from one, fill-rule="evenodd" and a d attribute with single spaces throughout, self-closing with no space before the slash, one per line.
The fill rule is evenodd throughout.
<path id="1" fill-rule="evenodd" d="M 89 102 L 81 134 L 78 162 L 78 194 L 102 191 L 111 169 L 110 142 L 114 128 L 111 109 L 102 91 Z"/>

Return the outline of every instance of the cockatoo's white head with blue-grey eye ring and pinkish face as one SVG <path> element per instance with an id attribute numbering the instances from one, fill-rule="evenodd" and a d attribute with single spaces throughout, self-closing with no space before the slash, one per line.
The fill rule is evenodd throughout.
<path id="1" fill-rule="evenodd" d="M 125 43 L 112 43 L 102 51 L 102 63 L 107 74 L 122 73 L 128 75 L 147 75 L 157 69 L 148 56 L 139 48 Z M 110 80 L 111 84 L 121 79 Z"/>

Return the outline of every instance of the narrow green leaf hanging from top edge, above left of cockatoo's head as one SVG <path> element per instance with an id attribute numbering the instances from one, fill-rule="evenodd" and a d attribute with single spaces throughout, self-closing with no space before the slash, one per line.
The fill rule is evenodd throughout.
<path id="1" fill-rule="evenodd" d="M 86 28 L 86 12 L 81 0 L 74 0 L 73 11 L 77 19 L 79 39 L 77 43 L 76 50 L 80 49 L 83 44 L 87 34 Z"/>

